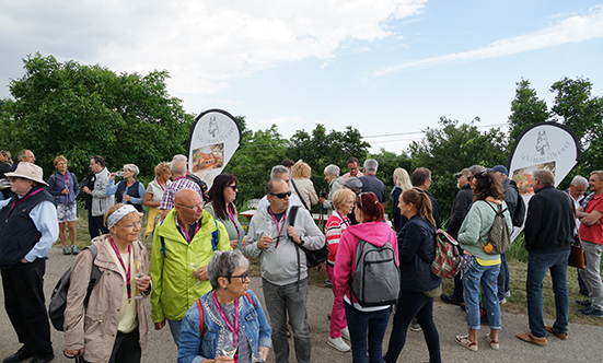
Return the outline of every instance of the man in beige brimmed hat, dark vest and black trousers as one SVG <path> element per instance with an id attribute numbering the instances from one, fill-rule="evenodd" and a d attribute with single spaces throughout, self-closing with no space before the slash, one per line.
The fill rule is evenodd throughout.
<path id="1" fill-rule="evenodd" d="M 44 304 L 46 255 L 59 236 L 53 196 L 44 187 L 42 167 L 19 163 L 11 180 L 13 197 L 0 201 L 0 271 L 4 307 L 16 331 L 21 349 L 4 363 L 50 362 L 55 354 L 50 325 Z"/>

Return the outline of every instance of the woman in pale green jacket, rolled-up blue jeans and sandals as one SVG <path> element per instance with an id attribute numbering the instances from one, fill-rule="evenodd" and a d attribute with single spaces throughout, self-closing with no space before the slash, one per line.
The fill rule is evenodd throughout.
<path id="1" fill-rule="evenodd" d="M 473 175 L 473 204 L 459 230 L 459 244 L 463 254 L 463 298 L 466 304 L 468 335 L 456 336 L 456 342 L 471 351 L 477 351 L 477 330 L 479 321 L 479 288 L 484 293 L 484 303 L 488 312 L 490 333 L 485 340 L 490 348 L 498 350 L 498 331 L 500 330 L 500 303 L 498 301 L 498 273 L 500 272 L 500 255 L 488 255 L 483 244 L 488 242 L 496 212 L 502 206 L 509 234 L 513 229 L 511 215 L 507 209 L 505 189 L 492 173 L 484 169 Z"/>

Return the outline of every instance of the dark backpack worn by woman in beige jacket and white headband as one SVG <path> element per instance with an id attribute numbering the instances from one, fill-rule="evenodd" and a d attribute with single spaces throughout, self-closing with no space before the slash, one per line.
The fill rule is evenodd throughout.
<path id="1" fill-rule="evenodd" d="M 90 271 L 90 282 L 88 284 L 88 291 L 84 298 L 84 308 L 88 306 L 90 300 L 90 294 L 92 294 L 92 289 L 101 280 L 102 272 L 98 270 L 98 267 L 94 265 L 96 255 L 98 254 L 98 248 L 95 245 L 85 247 L 84 249 L 90 249 L 92 253 L 92 270 Z M 82 249 L 83 253 L 83 249 Z M 71 269 L 70 267 L 62 273 L 57 285 L 53 290 L 53 295 L 50 296 L 50 304 L 48 305 L 48 317 L 55 329 L 59 331 L 65 331 L 65 308 L 67 307 L 67 292 L 69 291 L 69 284 L 71 282 Z"/>

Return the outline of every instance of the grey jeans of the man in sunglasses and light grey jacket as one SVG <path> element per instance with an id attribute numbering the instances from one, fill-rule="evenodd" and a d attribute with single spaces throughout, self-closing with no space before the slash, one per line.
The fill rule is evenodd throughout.
<path id="1" fill-rule="evenodd" d="M 299 282 L 276 285 L 262 279 L 266 309 L 272 326 L 272 349 L 277 363 L 289 362 L 287 315 L 293 329 L 293 346 L 298 363 L 310 363 L 312 350 L 306 319 L 308 278 Z"/>

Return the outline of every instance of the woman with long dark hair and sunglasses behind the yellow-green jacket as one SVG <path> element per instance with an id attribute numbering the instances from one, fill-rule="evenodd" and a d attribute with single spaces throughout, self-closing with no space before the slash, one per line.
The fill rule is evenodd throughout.
<path id="1" fill-rule="evenodd" d="M 245 230 L 239 222 L 239 213 L 234 207 L 237 192 L 236 177 L 232 174 L 220 174 L 213 179 L 209 190 L 209 202 L 205 206 L 209 214 L 227 227 L 232 249 L 241 249 L 245 237 Z"/>

